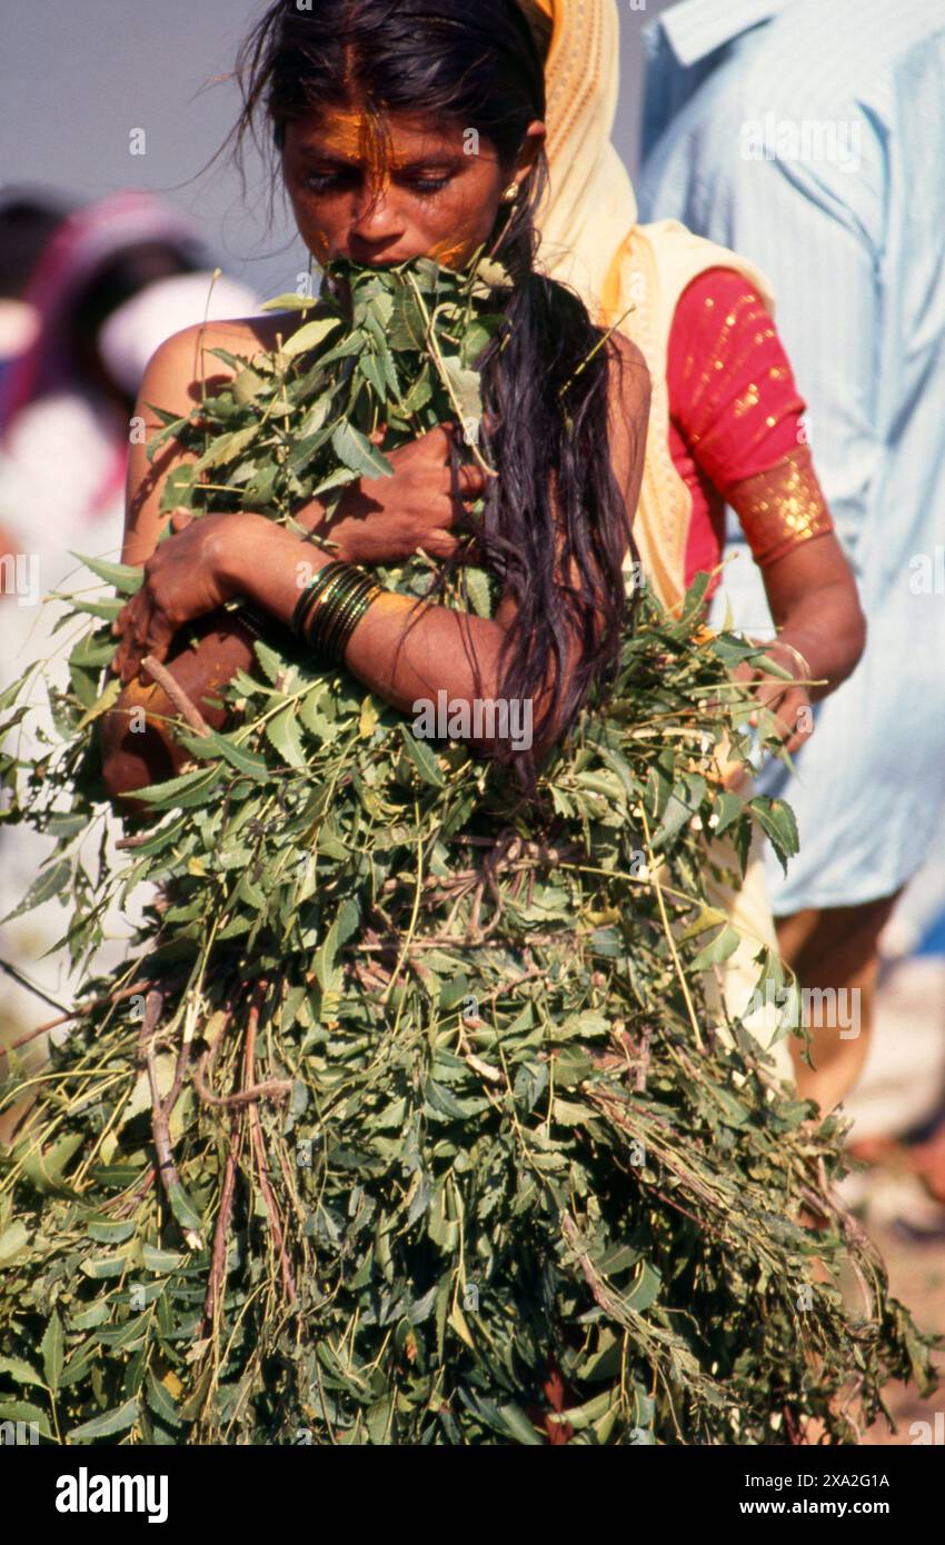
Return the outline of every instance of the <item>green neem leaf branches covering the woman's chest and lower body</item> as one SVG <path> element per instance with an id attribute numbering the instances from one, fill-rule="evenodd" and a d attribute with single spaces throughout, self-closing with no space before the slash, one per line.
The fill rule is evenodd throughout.
<path id="1" fill-rule="evenodd" d="M 168 422 L 201 459 L 167 507 L 289 521 L 389 470 L 378 422 L 476 442 L 500 270 L 346 278 Z M 721 743 L 747 751 L 729 671 L 752 650 L 706 633 L 704 586 L 678 618 L 644 601 L 534 803 L 259 641 L 225 731 L 181 722 L 193 766 L 96 865 L 108 629 L 141 582 L 99 573 L 119 593 L 73 612 L 91 630 L 52 694 L 62 739 L 26 765 L 8 737 L 9 819 L 57 839 L 26 904 L 62 896 L 76 959 L 108 899 L 154 888 L 49 1063 L 9 1058 L 3 1103 L 32 1105 L 0 1174 L 0 1420 L 73 1443 L 540 1443 L 554 1369 L 574 1443 L 791 1443 L 808 1417 L 843 1443 L 886 1380 L 928 1381 L 832 1200 L 835 1123 L 712 992 L 738 935 L 706 899 L 709 840 L 744 861 L 755 825 L 783 854 L 794 831 L 720 779 Z M 482 573 L 451 596 L 491 604 Z M 766 953 L 758 973 L 786 986 Z"/>

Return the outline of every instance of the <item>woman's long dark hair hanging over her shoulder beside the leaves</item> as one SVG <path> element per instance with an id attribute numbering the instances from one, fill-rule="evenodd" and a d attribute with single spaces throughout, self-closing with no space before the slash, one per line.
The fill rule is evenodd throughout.
<path id="1" fill-rule="evenodd" d="M 238 147 L 261 121 L 279 147 L 287 122 L 358 104 L 378 117 L 428 113 L 474 125 L 511 175 L 528 124 L 545 116 L 542 54 L 516 0 L 310 0 L 310 9 L 276 0 L 241 48 L 238 79 Z M 619 355 L 599 348 L 602 332 L 573 290 L 536 273 L 534 216 L 547 179 L 542 153 L 517 207 L 497 216 L 496 256 L 514 287 L 502 341 L 479 360 L 494 420 L 483 440 L 500 476 L 488 480 L 476 535 L 517 604 L 500 695 L 536 701 L 545 681 L 562 683 L 553 701 L 536 701 L 536 752 L 573 725 L 588 691 L 613 669 L 627 527 L 608 437 L 610 371 Z M 573 584 L 562 582 L 564 572 Z M 574 633 L 578 658 L 565 686 Z M 514 754 L 497 746 L 496 756 Z"/>

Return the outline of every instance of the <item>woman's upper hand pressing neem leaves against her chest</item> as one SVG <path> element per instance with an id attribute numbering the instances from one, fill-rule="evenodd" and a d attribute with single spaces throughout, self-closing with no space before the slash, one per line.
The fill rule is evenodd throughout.
<path id="1" fill-rule="evenodd" d="M 459 539 L 451 527 L 460 504 L 451 485 L 451 431 L 452 425 L 443 423 L 397 451 L 386 451 L 394 477 L 361 479 L 347 490 L 335 518 L 318 530 L 337 544 L 338 558 L 354 564 L 391 564 L 420 548 L 431 558 L 456 553 Z M 480 467 L 462 467 L 460 499 L 482 497 L 485 482 Z"/>

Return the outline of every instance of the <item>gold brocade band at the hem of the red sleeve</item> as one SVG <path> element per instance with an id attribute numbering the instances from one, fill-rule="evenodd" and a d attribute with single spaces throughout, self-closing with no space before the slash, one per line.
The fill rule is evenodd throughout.
<path id="1" fill-rule="evenodd" d="M 834 530 L 811 450 L 798 445 L 775 467 L 755 473 L 729 490 L 752 556 L 760 569 L 814 536 Z"/>

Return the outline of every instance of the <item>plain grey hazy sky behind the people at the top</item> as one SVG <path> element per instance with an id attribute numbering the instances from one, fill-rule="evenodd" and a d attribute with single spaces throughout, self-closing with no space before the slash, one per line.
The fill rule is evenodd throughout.
<path id="1" fill-rule="evenodd" d="M 469 0 L 471 5 L 476 0 Z M 636 167 L 641 29 L 669 0 L 621 9 L 616 142 Z M 193 215 L 224 270 L 261 297 L 295 289 L 307 267 L 281 199 L 247 158 L 246 199 L 221 159 L 238 90 L 224 77 L 266 0 L 0 0 L 0 185 L 42 184 L 85 202 L 124 187 Z M 145 131 L 145 154 L 130 153 Z M 193 179 L 193 181 L 191 181 Z"/>

